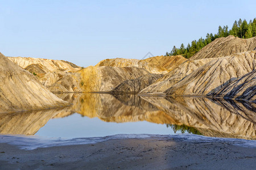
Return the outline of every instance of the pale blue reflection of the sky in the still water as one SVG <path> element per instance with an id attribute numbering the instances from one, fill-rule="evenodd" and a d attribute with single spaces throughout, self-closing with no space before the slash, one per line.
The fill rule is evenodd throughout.
<path id="1" fill-rule="evenodd" d="M 99 118 L 81 117 L 75 113 L 64 118 L 49 120 L 36 135 L 46 137 L 80 138 L 105 137 L 115 134 L 174 134 L 166 125 L 147 121 L 105 122 Z"/>

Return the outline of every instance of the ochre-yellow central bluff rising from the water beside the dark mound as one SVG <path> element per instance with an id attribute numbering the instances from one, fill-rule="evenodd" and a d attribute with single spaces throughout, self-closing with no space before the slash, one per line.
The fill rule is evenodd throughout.
<path id="1" fill-rule="evenodd" d="M 89 66 L 78 71 L 83 92 L 109 92 L 125 80 L 136 79 L 149 72 L 138 67 Z"/>

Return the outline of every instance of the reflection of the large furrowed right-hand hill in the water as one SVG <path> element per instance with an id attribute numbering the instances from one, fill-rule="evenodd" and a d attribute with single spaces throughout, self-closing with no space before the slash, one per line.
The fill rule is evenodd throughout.
<path id="1" fill-rule="evenodd" d="M 253 110 L 242 107 L 241 103 L 234 105 L 227 101 L 214 102 L 198 97 L 143 98 L 168 113 L 175 121 L 197 128 L 204 135 L 256 139 L 256 126 L 253 120 L 255 116 L 251 116 Z M 222 106 L 225 103 L 229 104 L 230 109 Z M 233 109 L 238 105 L 241 108 L 240 111 Z"/>

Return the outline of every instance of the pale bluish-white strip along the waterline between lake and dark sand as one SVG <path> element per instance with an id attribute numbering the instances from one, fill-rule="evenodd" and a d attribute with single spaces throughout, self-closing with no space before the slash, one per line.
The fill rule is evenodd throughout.
<path id="1" fill-rule="evenodd" d="M 234 146 L 256 148 L 256 140 L 241 138 L 220 138 L 207 137 L 191 133 L 176 133 L 169 135 L 159 134 L 116 134 L 104 137 L 82 137 L 82 138 L 61 138 L 61 137 L 42 137 L 38 135 L 9 135 L 0 134 L 0 144 L 18 147 L 20 150 L 35 150 L 37 148 L 47 148 L 55 146 L 72 146 L 72 145 L 88 145 L 109 140 L 126 140 L 126 139 L 155 139 L 167 141 L 183 141 L 183 142 L 230 142 Z"/>

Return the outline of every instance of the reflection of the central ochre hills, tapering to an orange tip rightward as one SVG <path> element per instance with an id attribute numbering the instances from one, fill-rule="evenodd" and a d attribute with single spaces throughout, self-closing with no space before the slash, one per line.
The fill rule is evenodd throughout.
<path id="1" fill-rule="evenodd" d="M 82 94 L 74 97 L 73 94 L 68 94 L 58 97 L 74 103 L 69 108 L 69 113 L 98 117 L 106 122 L 148 121 L 156 124 L 178 124 L 168 114 L 135 95 Z M 55 117 L 61 116 L 65 117 L 65 114 L 59 113 Z"/>

